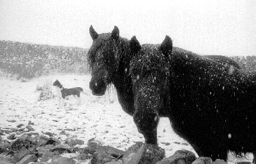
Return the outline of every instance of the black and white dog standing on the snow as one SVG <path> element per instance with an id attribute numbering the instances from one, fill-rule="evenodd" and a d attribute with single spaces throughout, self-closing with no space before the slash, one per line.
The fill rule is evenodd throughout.
<path id="1" fill-rule="evenodd" d="M 73 95 L 75 99 L 79 100 L 78 104 L 81 104 L 80 99 L 80 92 L 82 92 L 84 95 L 86 95 L 86 92 L 81 87 L 75 87 L 75 88 L 64 88 L 61 83 L 56 79 L 56 81 L 53 83 L 53 86 L 56 87 L 57 97 L 59 98 L 59 107 L 64 107 L 64 99 L 70 95 Z M 62 103 L 61 103 L 62 100 Z"/>

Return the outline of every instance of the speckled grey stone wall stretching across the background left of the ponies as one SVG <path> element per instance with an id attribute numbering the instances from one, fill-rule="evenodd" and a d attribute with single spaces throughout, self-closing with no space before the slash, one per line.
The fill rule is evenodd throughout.
<path id="1" fill-rule="evenodd" d="M 50 72 L 86 74 L 86 55 L 86 49 L 77 47 L 0 41 L 0 69 L 18 79 Z"/>

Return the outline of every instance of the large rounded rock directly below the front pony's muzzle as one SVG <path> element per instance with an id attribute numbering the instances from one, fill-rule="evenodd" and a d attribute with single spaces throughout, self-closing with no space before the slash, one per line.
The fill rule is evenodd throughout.
<path id="1" fill-rule="evenodd" d="M 154 164 L 162 160 L 164 157 L 164 149 L 153 144 L 144 144 L 142 142 L 137 142 L 133 146 L 129 147 L 128 150 L 124 153 L 122 161 L 124 164 Z"/>

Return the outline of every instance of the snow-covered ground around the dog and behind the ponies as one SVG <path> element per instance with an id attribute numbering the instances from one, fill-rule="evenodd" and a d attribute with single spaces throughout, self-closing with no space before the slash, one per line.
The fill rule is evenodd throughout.
<path id="1" fill-rule="evenodd" d="M 42 85 L 45 81 L 51 81 L 52 84 L 56 79 L 64 88 L 84 88 L 87 95 L 81 94 L 82 104 L 77 105 L 77 100 L 70 97 L 69 100 L 65 100 L 64 109 L 59 109 L 57 97 L 38 101 L 40 92 L 36 91 L 36 86 Z M 133 123 L 132 116 L 124 113 L 119 105 L 114 88 L 109 88 L 104 96 L 96 97 L 89 90 L 90 79 L 89 75 L 68 74 L 45 76 L 22 83 L 0 77 L 0 128 L 17 128 L 17 125 L 28 125 L 32 122 L 34 132 L 39 134 L 52 132 L 55 134 L 54 137 L 60 140 L 70 137 L 84 140 L 85 143 L 91 138 L 96 138 L 103 146 L 113 146 L 124 151 L 135 142 L 144 142 L 143 136 Z M 52 92 L 57 95 L 54 86 Z M 61 133 L 67 128 L 71 129 L 66 131 L 68 136 Z M 6 139 L 6 135 L 2 137 Z M 160 119 L 158 145 L 165 149 L 167 157 L 179 149 L 195 153 L 188 142 L 172 131 L 167 118 Z M 86 144 L 82 147 L 85 146 Z M 252 155 L 249 159 L 252 161 Z M 230 160 L 232 163 L 236 162 L 233 157 Z"/>

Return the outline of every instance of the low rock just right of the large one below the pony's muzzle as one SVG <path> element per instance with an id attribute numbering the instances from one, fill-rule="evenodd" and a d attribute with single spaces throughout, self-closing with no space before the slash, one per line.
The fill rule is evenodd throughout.
<path id="1" fill-rule="evenodd" d="M 191 164 L 193 161 L 195 161 L 195 159 L 196 156 L 193 152 L 187 150 L 178 150 L 172 156 L 158 161 L 157 164 Z"/>

